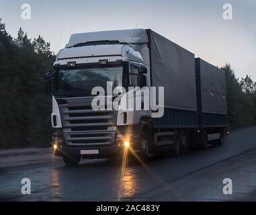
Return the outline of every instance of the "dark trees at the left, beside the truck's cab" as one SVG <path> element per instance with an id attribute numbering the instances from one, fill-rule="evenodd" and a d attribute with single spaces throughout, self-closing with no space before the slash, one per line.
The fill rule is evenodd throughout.
<path id="1" fill-rule="evenodd" d="M 51 99 L 44 73 L 55 60 L 50 43 L 19 29 L 12 38 L 0 21 L 0 147 L 47 146 Z"/>

